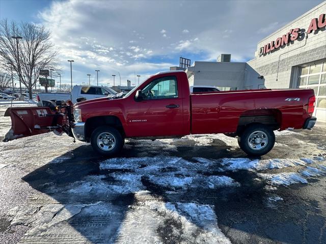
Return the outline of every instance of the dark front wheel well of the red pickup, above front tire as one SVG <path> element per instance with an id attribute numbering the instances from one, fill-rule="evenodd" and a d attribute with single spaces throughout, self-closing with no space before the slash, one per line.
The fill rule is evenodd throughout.
<path id="1" fill-rule="evenodd" d="M 90 140 L 92 132 L 100 126 L 112 126 L 121 133 L 122 137 L 125 137 L 125 133 L 121 121 L 118 117 L 113 115 L 97 116 L 97 117 L 91 117 L 86 120 L 85 136 L 87 141 Z"/>

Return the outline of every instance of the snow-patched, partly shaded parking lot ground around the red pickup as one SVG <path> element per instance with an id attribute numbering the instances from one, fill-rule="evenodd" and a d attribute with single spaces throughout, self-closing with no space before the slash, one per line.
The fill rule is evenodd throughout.
<path id="1" fill-rule="evenodd" d="M 113 159 L 52 133 L 0 142 L 0 243 L 325 243 L 325 129 L 276 136 L 261 158 L 221 134 Z"/>

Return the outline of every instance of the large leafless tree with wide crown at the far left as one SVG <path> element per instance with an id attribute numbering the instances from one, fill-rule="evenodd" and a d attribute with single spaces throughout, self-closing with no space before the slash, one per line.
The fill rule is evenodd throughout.
<path id="1" fill-rule="evenodd" d="M 17 41 L 12 37 L 22 37 Z M 40 70 L 56 69 L 57 50 L 50 41 L 50 33 L 44 26 L 28 22 L 0 20 L 0 66 L 14 70 L 15 78 L 28 88 L 32 98 L 32 88 L 40 76 Z M 19 55 L 19 58 L 18 58 Z"/>

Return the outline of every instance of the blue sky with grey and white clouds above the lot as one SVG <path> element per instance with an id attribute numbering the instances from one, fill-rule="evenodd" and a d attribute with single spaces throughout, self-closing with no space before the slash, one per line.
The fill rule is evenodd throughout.
<path id="1" fill-rule="evenodd" d="M 60 50 L 62 83 L 126 85 L 179 66 L 179 57 L 232 62 L 254 57 L 257 43 L 321 0 L 105 1 L 0 0 L 0 19 L 42 24 Z M 56 72 L 57 73 L 57 72 Z M 59 79 L 56 78 L 56 82 Z"/>

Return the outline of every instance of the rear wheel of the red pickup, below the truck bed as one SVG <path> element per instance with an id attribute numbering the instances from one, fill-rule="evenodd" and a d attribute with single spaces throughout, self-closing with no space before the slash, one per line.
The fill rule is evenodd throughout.
<path id="1" fill-rule="evenodd" d="M 275 144 L 275 134 L 272 129 L 262 124 L 248 126 L 238 137 L 238 143 L 244 153 L 251 156 L 267 154 Z"/>

